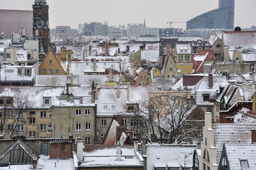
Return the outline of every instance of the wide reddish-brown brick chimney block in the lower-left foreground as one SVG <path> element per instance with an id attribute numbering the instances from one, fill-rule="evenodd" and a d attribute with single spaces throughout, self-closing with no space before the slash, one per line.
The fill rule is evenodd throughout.
<path id="1" fill-rule="evenodd" d="M 50 159 L 72 157 L 72 142 L 50 142 Z"/>

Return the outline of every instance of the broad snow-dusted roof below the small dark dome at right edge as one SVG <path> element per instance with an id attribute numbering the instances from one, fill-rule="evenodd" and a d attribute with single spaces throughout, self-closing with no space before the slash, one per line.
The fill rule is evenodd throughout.
<path id="1" fill-rule="evenodd" d="M 229 50 L 236 47 L 256 48 L 256 31 L 224 31 L 223 45 Z"/>

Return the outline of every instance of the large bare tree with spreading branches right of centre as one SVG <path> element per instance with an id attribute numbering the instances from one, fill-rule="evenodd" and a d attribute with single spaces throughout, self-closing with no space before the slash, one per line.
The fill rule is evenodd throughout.
<path id="1" fill-rule="evenodd" d="M 156 94 L 150 101 L 137 103 L 139 107 L 130 116 L 140 118 L 142 123 L 138 123 L 137 127 L 149 142 L 152 142 L 152 137 L 160 144 L 167 142 L 166 139 L 168 143 L 175 144 L 183 140 L 196 140 L 204 123 L 203 120 L 198 120 L 204 119 L 204 111 L 187 96 Z"/>

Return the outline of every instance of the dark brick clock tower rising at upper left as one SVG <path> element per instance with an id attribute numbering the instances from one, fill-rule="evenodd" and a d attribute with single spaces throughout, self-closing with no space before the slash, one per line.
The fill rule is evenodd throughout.
<path id="1" fill-rule="evenodd" d="M 35 4 L 33 4 L 33 37 L 38 38 L 39 55 L 45 55 L 50 47 L 48 10 L 49 6 L 46 0 L 35 0 Z"/>

